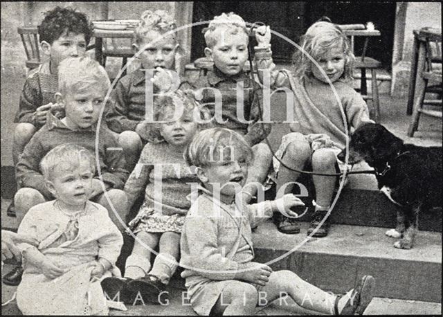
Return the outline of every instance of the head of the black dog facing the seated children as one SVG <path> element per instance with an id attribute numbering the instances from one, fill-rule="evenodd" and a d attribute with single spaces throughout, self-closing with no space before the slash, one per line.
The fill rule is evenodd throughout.
<path id="1" fill-rule="evenodd" d="M 348 163 L 366 161 L 369 165 L 375 162 L 388 161 L 397 154 L 403 145 L 401 138 L 390 133 L 383 125 L 366 123 L 358 127 L 349 142 Z M 338 159 L 345 161 L 346 149 L 338 154 Z"/>

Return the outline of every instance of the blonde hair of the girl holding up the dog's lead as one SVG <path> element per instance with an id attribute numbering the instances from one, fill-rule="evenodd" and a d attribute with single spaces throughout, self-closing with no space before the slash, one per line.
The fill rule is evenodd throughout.
<path id="1" fill-rule="evenodd" d="M 327 51 L 340 46 L 345 55 L 345 70 L 341 75 L 343 80 L 352 80 L 354 54 L 343 30 L 331 22 L 318 21 L 312 24 L 300 39 L 301 49 L 293 53 L 293 68 L 296 78 L 312 77 L 311 67 L 316 67 L 307 55 L 319 60 Z"/>

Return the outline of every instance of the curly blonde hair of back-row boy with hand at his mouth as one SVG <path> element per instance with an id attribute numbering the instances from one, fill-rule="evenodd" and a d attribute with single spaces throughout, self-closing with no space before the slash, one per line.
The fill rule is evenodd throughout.
<path id="1" fill-rule="evenodd" d="M 142 13 L 140 22 L 134 30 L 134 39 L 137 44 L 143 42 L 146 33 L 155 30 L 159 33 L 166 33 L 177 28 L 177 24 L 172 16 L 165 10 L 146 10 Z M 174 36 L 174 39 L 176 37 Z M 177 40 L 177 39 L 176 39 Z"/>

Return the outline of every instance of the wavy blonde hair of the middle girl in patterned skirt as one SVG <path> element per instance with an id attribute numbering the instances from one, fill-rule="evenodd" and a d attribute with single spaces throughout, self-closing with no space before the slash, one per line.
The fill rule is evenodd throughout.
<path id="1" fill-rule="evenodd" d="M 183 107 L 182 109 L 179 109 Z M 161 143 L 165 141 L 160 134 L 163 123 L 159 121 L 167 120 L 168 116 L 175 111 L 183 110 L 182 116 L 197 111 L 197 115 L 202 121 L 208 121 L 210 114 L 208 109 L 201 107 L 194 98 L 192 91 L 177 90 L 174 93 L 165 93 L 154 100 L 154 122 L 147 126 L 146 138 L 152 143 Z M 207 129 L 212 125 L 210 123 L 197 123 L 198 129 Z"/>

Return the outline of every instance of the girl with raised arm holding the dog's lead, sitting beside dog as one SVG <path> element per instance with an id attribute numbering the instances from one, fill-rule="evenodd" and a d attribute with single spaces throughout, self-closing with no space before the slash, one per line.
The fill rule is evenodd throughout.
<path id="1" fill-rule="evenodd" d="M 336 154 L 345 147 L 347 134 L 363 122 L 372 122 L 365 101 L 350 86 L 354 55 L 346 36 L 341 28 L 326 21 L 309 27 L 302 37 L 302 49 L 294 54 L 295 76 L 286 70 L 273 71 L 275 64 L 271 57 L 269 26 L 258 28 L 256 38 L 259 44 L 255 48 L 255 58 L 260 79 L 264 79 L 266 71 L 271 71 L 271 86 L 289 87 L 294 97 L 294 118 L 297 122 L 291 123 L 293 133 L 283 136 L 276 156 L 284 165 L 297 170 L 310 166 L 314 172 L 336 173 Z M 300 175 L 283 165 L 279 166 L 278 160 L 274 160 L 274 165 L 275 170 L 280 167 L 277 190 Z M 342 163 L 340 168 L 346 167 Z M 337 183 L 336 177 L 332 176 L 313 175 L 312 179 L 316 202 L 308 235 L 314 232 L 329 210 Z M 288 185 L 286 191 L 291 192 L 292 188 L 293 185 Z M 282 217 L 278 228 L 284 233 L 300 231 L 294 219 L 286 217 Z M 329 221 L 325 219 L 313 236 L 324 237 L 328 229 Z"/>

